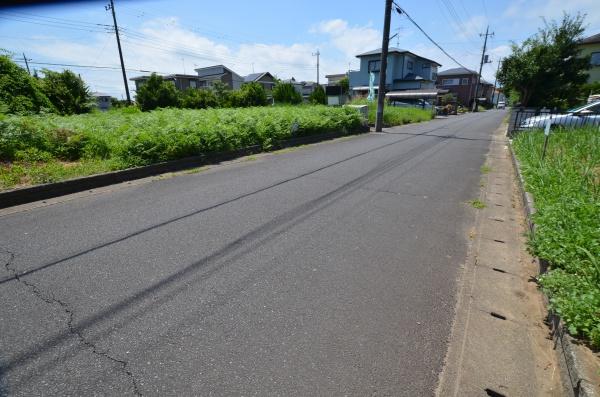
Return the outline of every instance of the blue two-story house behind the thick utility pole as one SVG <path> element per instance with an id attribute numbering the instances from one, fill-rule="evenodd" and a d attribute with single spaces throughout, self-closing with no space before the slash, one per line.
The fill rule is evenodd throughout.
<path id="1" fill-rule="evenodd" d="M 381 49 L 356 56 L 360 59 L 360 70 L 350 72 L 350 90 L 354 96 L 364 96 L 369 91 L 369 73 L 375 75 L 375 90 L 379 85 L 381 69 Z M 436 91 L 435 82 L 439 63 L 407 50 L 390 47 L 385 79 L 386 92 L 415 91 L 423 93 Z"/>

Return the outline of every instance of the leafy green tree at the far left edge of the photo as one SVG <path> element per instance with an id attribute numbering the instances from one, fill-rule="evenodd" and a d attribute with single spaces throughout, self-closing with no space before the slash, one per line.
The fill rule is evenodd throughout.
<path id="1" fill-rule="evenodd" d="M 0 55 L 0 103 L 7 113 L 37 113 L 54 110 L 42 92 L 38 80 L 10 60 Z"/>

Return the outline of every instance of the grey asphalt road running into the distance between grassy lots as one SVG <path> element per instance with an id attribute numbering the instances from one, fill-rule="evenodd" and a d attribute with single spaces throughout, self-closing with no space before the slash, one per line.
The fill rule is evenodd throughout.
<path id="1" fill-rule="evenodd" d="M 0 395 L 428 395 L 505 113 L 0 216 Z"/>

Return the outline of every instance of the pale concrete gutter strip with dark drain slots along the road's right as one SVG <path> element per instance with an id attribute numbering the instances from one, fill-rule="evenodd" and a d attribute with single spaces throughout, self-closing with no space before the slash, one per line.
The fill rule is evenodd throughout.
<path id="1" fill-rule="evenodd" d="M 439 396 L 564 394 L 503 128 L 482 167 Z"/>

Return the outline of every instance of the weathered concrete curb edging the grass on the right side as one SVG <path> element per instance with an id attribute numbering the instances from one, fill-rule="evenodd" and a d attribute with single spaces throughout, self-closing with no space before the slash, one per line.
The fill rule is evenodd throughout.
<path id="1" fill-rule="evenodd" d="M 525 215 L 527 224 L 529 225 L 529 231 L 535 233 L 535 223 L 533 222 L 533 214 L 535 214 L 535 205 L 533 202 L 533 196 L 525 190 L 525 180 L 521 173 L 521 164 L 517 159 L 515 151 L 512 146 L 512 140 L 509 141 L 510 154 L 512 157 L 513 166 L 519 180 L 519 188 L 521 190 L 523 207 L 525 208 Z M 544 274 L 548 271 L 548 261 L 540 258 L 535 258 L 539 265 L 539 273 Z M 548 297 L 544 294 L 544 304 L 548 308 Z M 548 324 L 552 332 L 554 339 L 554 348 L 559 350 L 559 362 L 560 369 L 563 375 L 563 379 L 568 379 L 570 382 L 573 396 L 575 397 L 594 397 L 597 396 L 594 391 L 594 386 L 585 377 L 585 369 L 583 368 L 583 360 L 578 357 L 577 350 L 575 349 L 576 340 L 569 335 L 564 322 L 560 316 L 548 309 Z"/>

